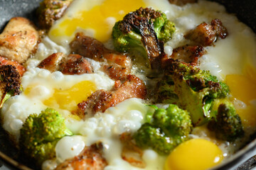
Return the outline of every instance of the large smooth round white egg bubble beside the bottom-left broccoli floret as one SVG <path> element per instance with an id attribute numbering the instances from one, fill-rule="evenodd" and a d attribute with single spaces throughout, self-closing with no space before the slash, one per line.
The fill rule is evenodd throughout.
<path id="1" fill-rule="evenodd" d="M 55 151 L 58 161 L 63 162 L 65 159 L 73 158 L 82 152 L 85 142 L 81 136 L 65 136 L 58 141 Z"/>

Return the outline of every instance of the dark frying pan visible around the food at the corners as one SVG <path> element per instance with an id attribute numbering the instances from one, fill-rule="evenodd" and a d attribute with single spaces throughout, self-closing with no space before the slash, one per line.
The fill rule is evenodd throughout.
<path id="1" fill-rule="evenodd" d="M 0 0 L 0 31 L 14 16 L 23 16 L 36 23 L 36 8 L 42 0 Z M 225 5 L 228 12 L 234 13 L 240 21 L 250 26 L 256 33 L 256 1 L 255 0 L 210 0 Z M 1 126 L 0 126 L 1 127 Z M 240 149 L 239 152 L 228 158 L 214 169 L 251 169 L 256 164 L 256 134 Z M 251 159 L 249 159 L 252 157 Z M 33 169 L 31 162 L 26 162 L 18 150 L 11 144 L 6 132 L 0 128 L 0 159 L 4 163 L 3 169 Z M 247 162 L 245 162 L 249 159 Z M 0 167 L 2 163 L 0 162 Z M 243 164 L 245 162 L 245 164 Z M 242 165 L 241 165 L 242 164 Z M 26 165 L 26 166 L 24 166 Z M 241 166 L 240 166 L 241 165 Z M 2 168 L 0 168 L 2 169 Z"/>

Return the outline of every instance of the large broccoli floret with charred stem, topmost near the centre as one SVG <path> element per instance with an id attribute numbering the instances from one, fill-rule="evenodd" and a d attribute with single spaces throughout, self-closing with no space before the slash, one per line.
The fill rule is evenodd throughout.
<path id="1" fill-rule="evenodd" d="M 140 63 L 154 67 L 154 61 L 164 52 L 164 42 L 171 39 L 174 31 L 174 23 L 165 13 L 139 8 L 115 23 L 112 38 L 115 50 L 129 52 Z"/>

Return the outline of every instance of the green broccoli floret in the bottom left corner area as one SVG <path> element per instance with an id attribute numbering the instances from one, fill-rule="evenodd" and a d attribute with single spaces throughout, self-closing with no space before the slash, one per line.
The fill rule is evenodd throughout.
<path id="1" fill-rule="evenodd" d="M 65 126 L 65 119 L 52 108 L 39 115 L 32 114 L 21 128 L 19 146 L 21 151 L 41 165 L 55 157 L 55 145 L 60 138 L 73 135 Z"/>

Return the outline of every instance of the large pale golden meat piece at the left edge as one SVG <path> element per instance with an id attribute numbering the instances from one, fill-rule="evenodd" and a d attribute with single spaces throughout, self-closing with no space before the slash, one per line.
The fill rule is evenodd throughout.
<path id="1" fill-rule="evenodd" d="M 19 63 L 36 51 L 38 31 L 26 18 L 11 18 L 0 35 L 0 56 Z"/>

